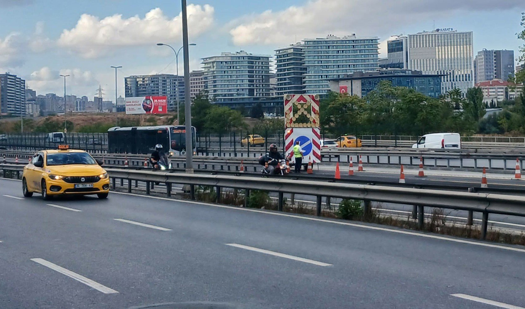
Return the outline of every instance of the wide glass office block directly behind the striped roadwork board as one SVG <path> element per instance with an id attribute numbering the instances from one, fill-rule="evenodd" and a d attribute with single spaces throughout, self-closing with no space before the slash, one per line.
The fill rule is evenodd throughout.
<path id="1" fill-rule="evenodd" d="M 355 71 L 379 69 L 377 37 L 343 37 L 304 39 L 303 89 L 306 94 L 325 95 L 330 91 L 328 80 L 344 77 Z"/>

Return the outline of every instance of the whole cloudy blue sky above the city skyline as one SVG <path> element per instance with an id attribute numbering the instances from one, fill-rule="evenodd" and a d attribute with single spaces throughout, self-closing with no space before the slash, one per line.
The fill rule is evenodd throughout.
<path id="1" fill-rule="evenodd" d="M 200 58 L 246 50 L 273 55 L 296 38 L 377 36 L 453 27 L 474 31 L 474 49 L 517 50 L 523 0 L 188 0 L 190 69 Z M 114 98 L 123 77 L 175 73 L 182 46 L 177 0 L 0 0 L 0 72 L 25 78 L 38 94 Z M 383 47 L 383 45 L 381 46 Z M 383 48 L 382 48 L 383 50 Z M 517 57 L 517 54 L 515 55 Z M 179 57 L 182 74 L 182 53 Z"/>

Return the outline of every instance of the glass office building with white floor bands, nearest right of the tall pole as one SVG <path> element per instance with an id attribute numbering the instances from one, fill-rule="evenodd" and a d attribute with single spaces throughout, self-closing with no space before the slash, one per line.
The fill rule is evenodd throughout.
<path id="1" fill-rule="evenodd" d="M 213 104 L 249 109 L 260 103 L 272 112 L 282 102 L 271 97 L 270 56 L 240 50 L 202 59 L 204 89 Z"/>

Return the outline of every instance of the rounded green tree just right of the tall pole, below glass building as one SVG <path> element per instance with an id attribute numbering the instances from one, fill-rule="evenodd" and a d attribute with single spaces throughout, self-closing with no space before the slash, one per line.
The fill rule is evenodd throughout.
<path id="1" fill-rule="evenodd" d="M 207 110 L 204 120 L 205 128 L 213 133 L 225 133 L 246 127 L 240 112 L 228 107 L 213 106 Z"/>

